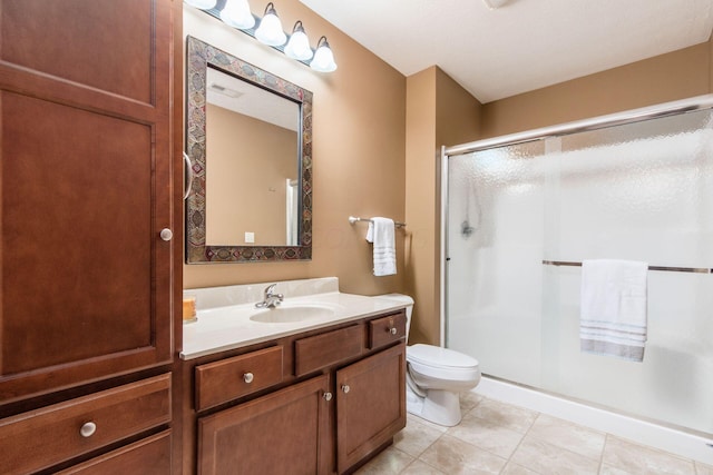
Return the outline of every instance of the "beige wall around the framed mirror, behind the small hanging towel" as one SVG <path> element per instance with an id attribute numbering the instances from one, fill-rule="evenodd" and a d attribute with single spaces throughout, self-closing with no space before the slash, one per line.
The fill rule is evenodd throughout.
<path id="1" fill-rule="evenodd" d="M 364 295 L 403 291 L 403 239 L 397 239 L 399 274 L 374 277 L 371 247 L 364 240 L 367 226 L 351 226 L 346 218 L 354 215 L 406 219 L 406 78 L 299 0 L 281 0 L 275 7 L 285 30 L 292 29 L 296 20 L 303 21 L 313 47 L 321 34 L 328 37 L 339 66 L 336 71 L 314 72 L 187 6 L 184 34 L 314 93 L 313 259 L 186 265 L 184 288 L 336 276 L 342 291 Z M 403 236 L 403 231 L 398 232 Z"/>

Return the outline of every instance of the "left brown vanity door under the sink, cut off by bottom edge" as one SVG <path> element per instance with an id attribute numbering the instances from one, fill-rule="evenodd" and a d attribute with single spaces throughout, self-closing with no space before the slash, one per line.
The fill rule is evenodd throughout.
<path id="1" fill-rule="evenodd" d="M 329 465 L 328 376 L 198 419 L 198 473 L 313 475 Z"/>

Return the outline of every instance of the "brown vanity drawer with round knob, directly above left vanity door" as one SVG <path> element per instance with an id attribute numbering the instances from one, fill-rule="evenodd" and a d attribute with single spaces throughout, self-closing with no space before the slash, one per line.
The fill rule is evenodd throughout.
<path id="1" fill-rule="evenodd" d="M 196 367 L 196 410 L 282 382 L 282 346 Z"/>

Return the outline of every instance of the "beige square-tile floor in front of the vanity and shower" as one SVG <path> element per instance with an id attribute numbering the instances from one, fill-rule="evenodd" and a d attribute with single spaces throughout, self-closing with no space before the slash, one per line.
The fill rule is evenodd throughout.
<path id="1" fill-rule="evenodd" d="M 356 474 L 713 475 L 711 466 L 475 393 L 461 407 L 462 422 L 450 428 L 409 414 L 393 445 Z"/>

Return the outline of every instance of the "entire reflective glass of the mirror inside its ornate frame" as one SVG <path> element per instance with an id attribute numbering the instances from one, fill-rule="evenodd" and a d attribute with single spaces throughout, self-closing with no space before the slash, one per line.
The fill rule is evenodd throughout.
<path id="1" fill-rule="evenodd" d="M 297 103 L 211 67 L 206 83 L 206 245 L 296 246 Z"/>

